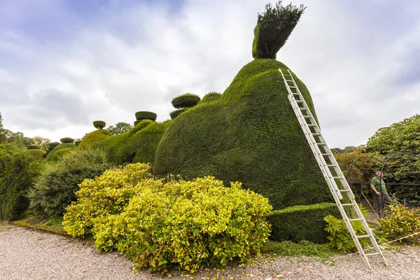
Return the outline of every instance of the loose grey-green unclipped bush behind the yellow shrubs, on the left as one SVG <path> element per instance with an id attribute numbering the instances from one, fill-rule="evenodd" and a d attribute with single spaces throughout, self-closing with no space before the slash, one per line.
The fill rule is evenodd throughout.
<path id="1" fill-rule="evenodd" d="M 76 201 L 74 193 L 84 179 L 94 179 L 111 165 L 104 151 L 86 148 L 62 155 L 61 160 L 45 165 L 28 193 L 35 214 L 61 216 L 64 208 Z"/>

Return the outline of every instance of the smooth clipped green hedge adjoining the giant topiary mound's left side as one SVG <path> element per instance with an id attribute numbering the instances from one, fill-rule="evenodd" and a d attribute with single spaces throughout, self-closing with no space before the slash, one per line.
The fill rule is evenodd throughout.
<path id="1" fill-rule="evenodd" d="M 166 130 L 167 124 L 142 120 L 129 132 L 107 137 L 94 144 L 94 148 L 104 149 L 114 165 L 153 163 L 156 148 Z"/>

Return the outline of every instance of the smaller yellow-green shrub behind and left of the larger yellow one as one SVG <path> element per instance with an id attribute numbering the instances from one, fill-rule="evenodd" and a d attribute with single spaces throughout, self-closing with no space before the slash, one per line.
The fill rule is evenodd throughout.
<path id="1" fill-rule="evenodd" d="M 149 165 L 137 163 L 106 170 L 95 179 L 85 179 L 76 192 L 77 202 L 66 207 L 64 230 L 73 237 L 89 235 L 95 218 L 100 221 L 119 214 L 144 184 L 161 186 L 161 181 L 152 179 L 149 170 Z"/>

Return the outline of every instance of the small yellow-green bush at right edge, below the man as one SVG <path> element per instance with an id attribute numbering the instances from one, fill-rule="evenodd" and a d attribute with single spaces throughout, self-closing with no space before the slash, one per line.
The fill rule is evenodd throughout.
<path id="1" fill-rule="evenodd" d="M 379 234 L 394 240 L 420 232 L 420 212 L 408 209 L 402 204 L 393 203 L 385 210 L 385 218 L 379 219 Z M 415 237 L 420 241 L 420 237 Z M 403 241 L 411 241 L 404 239 Z"/>

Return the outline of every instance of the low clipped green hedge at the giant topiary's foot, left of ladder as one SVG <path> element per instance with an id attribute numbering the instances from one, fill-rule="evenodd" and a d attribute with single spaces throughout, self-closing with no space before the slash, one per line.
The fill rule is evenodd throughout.
<path id="1" fill-rule="evenodd" d="M 265 219 L 272 225 L 270 239 L 275 241 L 301 241 L 314 243 L 328 242 L 325 232 L 325 216 L 341 217 L 334 203 L 312 205 L 296 205 L 281 210 L 272 211 Z"/>

